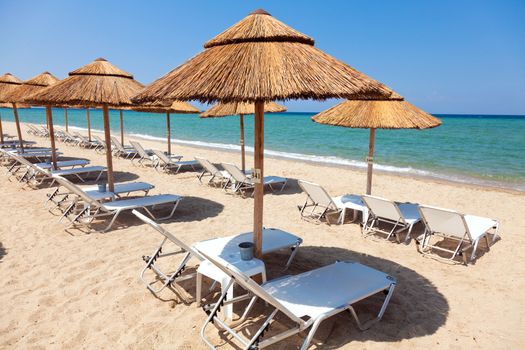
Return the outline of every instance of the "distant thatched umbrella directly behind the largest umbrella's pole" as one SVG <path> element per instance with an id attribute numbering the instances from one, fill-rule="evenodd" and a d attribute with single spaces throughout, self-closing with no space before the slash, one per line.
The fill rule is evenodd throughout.
<path id="1" fill-rule="evenodd" d="M 286 107 L 281 106 L 275 102 L 266 102 L 264 104 L 264 113 L 280 113 L 286 112 Z M 232 102 L 232 103 L 218 103 L 207 111 L 201 113 L 201 118 L 215 118 L 226 117 L 229 115 L 239 115 L 239 129 L 240 129 L 240 146 L 241 146 L 241 166 L 242 171 L 246 170 L 246 152 L 244 143 L 244 116 L 248 114 L 255 114 L 255 104 Z"/>

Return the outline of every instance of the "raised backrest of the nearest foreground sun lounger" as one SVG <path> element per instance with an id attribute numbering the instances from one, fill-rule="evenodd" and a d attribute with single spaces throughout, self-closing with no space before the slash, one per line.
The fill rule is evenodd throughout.
<path id="1" fill-rule="evenodd" d="M 235 283 L 240 285 L 245 290 L 253 293 L 257 297 L 266 301 L 268 304 L 271 304 L 276 309 L 279 309 L 282 313 L 288 316 L 293 321 L 304 324 L 305 321 L 295 316 L 290 310 L 288 310 L 284 305 L 282 305 L 278 300 L 271 296 L 266 290 L 264 290 L 260 285 L 258 285 L 250 277 L 246 276 L 244 273 L 239 271 L 235 266 L 229 264 L 227 261 L 219 257 L 211 257 L 204 252 L 199 251 L 199 253 L 209 262 L 214 264 L 220 270 L 222 270 L 226 275 L 230 276 L 235 280 Z"/>

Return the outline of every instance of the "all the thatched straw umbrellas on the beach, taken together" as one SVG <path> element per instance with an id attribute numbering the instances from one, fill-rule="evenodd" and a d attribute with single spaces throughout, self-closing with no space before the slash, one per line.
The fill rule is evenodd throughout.
<path id="1" fill-rule="evenodd" d="M 4 102 L 1 89 L 0 102 Z M 70 72 L 66 79 L 25 96 L 23 101 L 46 106 L 51 128 L 51 106 L 102 108 L 110 190 L 113 188 L 113 167 L 109 108 L 139 104 L 151 108 L 150 111 L 156 109 L 168 113 L 163 108 L 177 101 L 233 104 L 227 113 L 241 115 L 241 148 L 244 146 L 243 115 L 248 114 L 245 112 L 255 114 L 254 176 L 258 180 L 254 193 L 253 234 L 255 255 L 260 257 L 265 106 L 275 100 L 327 98 L 348 101 L 314 116 L 315 122 L 370 129 L 367 193 L 371 191 L 376 129 L 424 129 L 440 125 L 437 118 L 412 106 L 385 85 L 317 49 L 312 38 L 264 10 L 256 10 L 226 29 L 205 43 L 204 51 L 145 88 L 131 74 L 104 59 L 97 59 Z M 18 120 L 16 108 L 13 110 Z M 169 113 L 167 124 L 169 130 Z M 21 140 L 20 131 L 18 133 Z M 54 140 L 54 149 L 53 143 Z"/>

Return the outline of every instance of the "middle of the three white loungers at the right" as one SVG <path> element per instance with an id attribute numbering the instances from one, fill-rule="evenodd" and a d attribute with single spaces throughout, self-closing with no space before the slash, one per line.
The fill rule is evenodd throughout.
<path id="1" fill-rule="evenodd" d="M 421 220 L 418 205 L 414 203 L 398 203 L 391 200 L 363 195 L 363 202 L 368 207 L 369 217 L 363 226 L 363 233 L 366 235 L 381 233 L 385 234 L 385 239 L 389 240 L 392 235 L 401 243 L 400 234 L 407 231 L 404 243 L 408 244 L 411 239 L 411 232 L 414 225 Z M 379 227 L 381 223 L 391 224 L 390 231 Z"/>

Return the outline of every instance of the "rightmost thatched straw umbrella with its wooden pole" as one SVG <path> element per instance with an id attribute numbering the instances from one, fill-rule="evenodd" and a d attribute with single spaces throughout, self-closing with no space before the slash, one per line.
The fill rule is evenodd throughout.
<path id="1" fill-rule="evenodd" d="M 366 194 L 372 193 L 372 171 L 376 129 L 428 129 L 441 120 L 405 101 L 401 96 L 387 101 L 344 101 L 312 120 L 320 124 L 370 129 Z"/>

